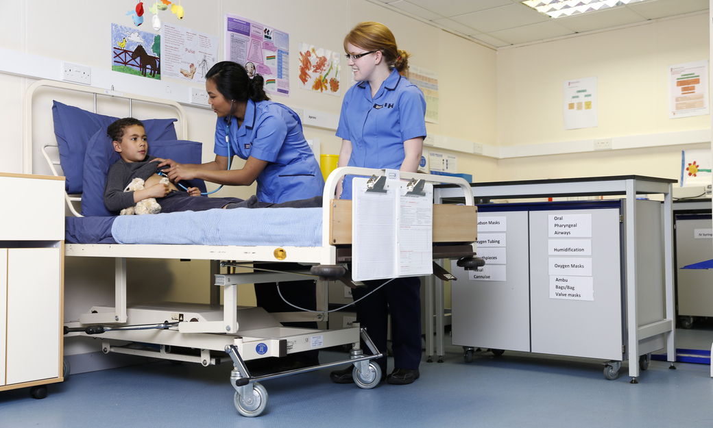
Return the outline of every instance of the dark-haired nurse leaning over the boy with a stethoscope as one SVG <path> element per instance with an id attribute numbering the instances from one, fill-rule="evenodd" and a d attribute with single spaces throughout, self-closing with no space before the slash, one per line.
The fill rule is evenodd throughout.
<path id="1" fill-rule="evenodd" d="M 203 179 L 217 184 L 249 186 L 257 181 L 260 202 L 287 202 L 322 195 L 324 179 L 302 134 L 297 113 L 267 97 L 262 75 L 248 77 L 231 61 L 216 63 L 206 75 L 208 103 L 217 115 L 215 160 L 180 164 L 165 160 L 172 182 Z M 234 155 L 246 160 L 229 169 Z"/>

